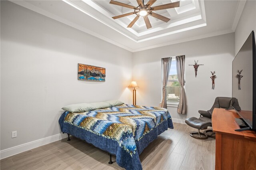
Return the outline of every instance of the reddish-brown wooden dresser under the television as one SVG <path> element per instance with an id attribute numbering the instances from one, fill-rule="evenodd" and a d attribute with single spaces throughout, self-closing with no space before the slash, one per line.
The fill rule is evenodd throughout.
<path id="1" fill-rule="evenodd" d="M 216 132 L 215 170 L 256 170 L 256 132 L 240 128 L 234 110 L 214 109 L 212 129 Z"/>

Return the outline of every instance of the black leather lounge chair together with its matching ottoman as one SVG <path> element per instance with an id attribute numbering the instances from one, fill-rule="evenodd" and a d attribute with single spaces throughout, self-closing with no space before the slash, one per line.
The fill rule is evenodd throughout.
<path id="1" fill-rule="evenodd" d="M 200 117 L 198 119 L 196 117 L 186 119 L 186 124 L 188 124 L 190 127 L 198 129 L 198 132 L 192 132 L 190 133 L 190 136 L 198 139 L 207 139 L 208 136 L 211 138 L 215 138 L 215 133 L 212 130 L 205 130 L 204 133 L 201 133 L 200 130 L 207 129 L 208 126 L 212 126 L 212 112 L 214 108 L 230 109 L 232 108 L 232 106 L 236 110 L 241 110 L 238 104 L 238 100 L 236 98 L 216 97 L 214 104 L 210 110 L 198 111 L 198 113 L 200 113 Z M 195 136 L 194 134 L 199 134 L 199 137 Z M 201 135 L 203 135 L 203 137 Z"/>

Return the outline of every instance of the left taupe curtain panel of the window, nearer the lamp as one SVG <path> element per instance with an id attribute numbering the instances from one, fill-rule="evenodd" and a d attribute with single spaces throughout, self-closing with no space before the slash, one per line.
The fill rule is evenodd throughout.
<path id="1" fill-rule="evenodd" d="M 169 72 L 171 69 L 172 57 L 162 58 L 162 86 L 163 86 L 163 98 L 161 107 L 167 108 L 167 97 L 166 97 L 166 85 L 168 82 Z"/>

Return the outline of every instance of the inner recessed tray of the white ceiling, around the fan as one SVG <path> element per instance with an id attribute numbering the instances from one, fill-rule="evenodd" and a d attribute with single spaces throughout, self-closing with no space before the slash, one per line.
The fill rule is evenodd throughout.
<path id="1" fill-rule="evenodd" d="M 90 12 L 95 19 L 98 19 L 100 22 L 110 26 L 110 28 L 124 34 L 124 36 L 127 36 L 134 42 L 143 42 L 177 32 L 206 26 L 204 1 L 183 0 L 180 1 L 180 7 L 178 8 L 155 11 L 157 14 L 171 18 L 171 20 L 166 23 L 152 16 L 148 16 L 152 25 L 152 28 L 150 29 L 146 28 L 146 24 L 142 17 L 138 19 L 132 28 L 126 28 L 135 18 L 136 14 L 116 20 L 112 19 L 112 16 L 133 12 L 134 10 L 109 4 L 109 0 L 70 0 L 65 2 L 79 10 Z M 136 0 L 119 0 L 118 2 L 138 6 Z M 145 1 L 145 3 L 146 2 L 147 1 Z M 171 2 L 176 2 L 176 0 L 157 0 L 153 6 Z"/>

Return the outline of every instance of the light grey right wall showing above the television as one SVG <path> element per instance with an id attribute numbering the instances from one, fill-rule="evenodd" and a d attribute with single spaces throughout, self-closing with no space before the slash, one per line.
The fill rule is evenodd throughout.
<path id="1" fill-rule="evenodd" d="M 256 1 L 247 0 L 235 31 L 235 53 L 243 46 L 244 42 L 254 31 L 256 35 Z"/>

